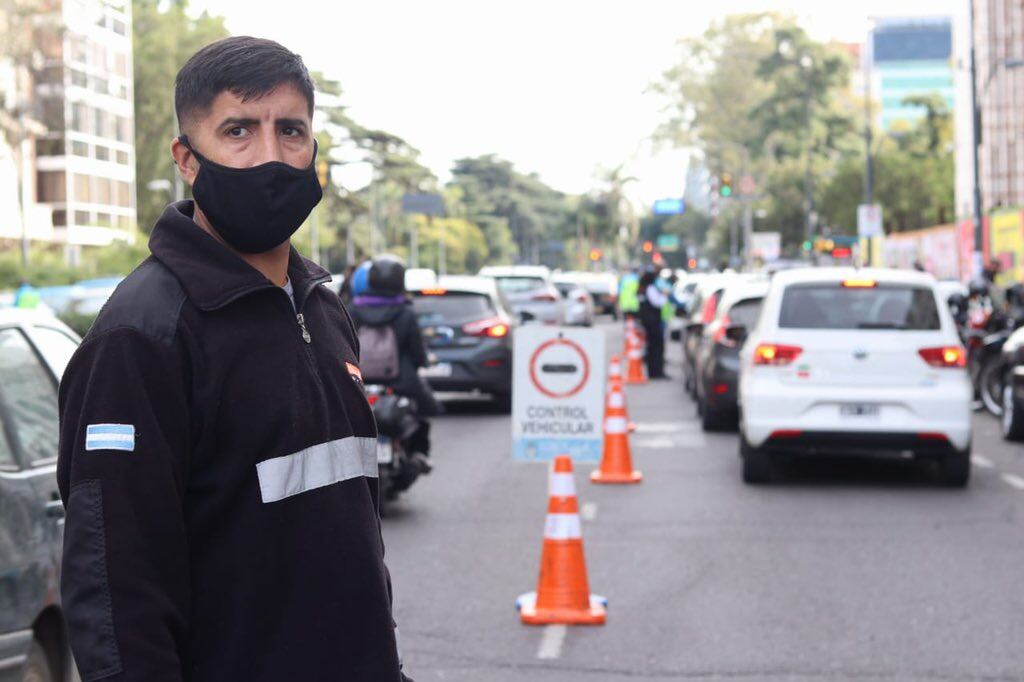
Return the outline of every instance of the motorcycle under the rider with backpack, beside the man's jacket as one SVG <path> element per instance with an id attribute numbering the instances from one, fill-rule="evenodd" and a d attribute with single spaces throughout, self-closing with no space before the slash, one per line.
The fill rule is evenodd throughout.
<path id="1" fill-rule="evenodd" d="M 383 504 L 430 473 L 425 452 L 429 424 L 417 416 L 415 401 L 384 386 L 368 385 L 367 399 L 377 421 L 377 469 Z"/>

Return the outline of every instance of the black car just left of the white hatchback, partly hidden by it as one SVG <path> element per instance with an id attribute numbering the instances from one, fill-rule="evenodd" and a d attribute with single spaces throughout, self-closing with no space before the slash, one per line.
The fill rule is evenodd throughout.
<path id="1" fill-rule="evenodd" d="M 715 318 L 697 337 L 694 360 L 694 399 L 700 425 L 706 431 L 735 426 L 739 417 L 736 389 L 739 384 L 739 346 L 728 335 L 729 328 L 754 329 L 768 281 L 738 280 L 725 288 Z"/>

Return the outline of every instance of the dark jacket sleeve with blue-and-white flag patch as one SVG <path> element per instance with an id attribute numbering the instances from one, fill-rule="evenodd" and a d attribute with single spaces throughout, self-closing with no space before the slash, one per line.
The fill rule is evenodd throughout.
<path id="1" fill-rule="evenodd" d="M 60 384 L 61 601 L 83 682 L 180 682 L 189 602 L 181 353 L 129 328 L 88 339 Z"/>

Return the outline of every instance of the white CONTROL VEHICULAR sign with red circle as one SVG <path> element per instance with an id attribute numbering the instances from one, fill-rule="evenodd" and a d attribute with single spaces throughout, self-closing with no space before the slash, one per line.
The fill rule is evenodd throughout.
<path id="1" fill-rule="evenodd" d="M 527 326 L 515 331 L 513 458 L 601 459 L 604 352 L 599 330 Z"/>

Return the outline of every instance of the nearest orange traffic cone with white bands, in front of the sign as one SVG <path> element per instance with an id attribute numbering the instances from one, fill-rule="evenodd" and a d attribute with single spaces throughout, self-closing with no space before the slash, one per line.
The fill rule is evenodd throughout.
<path id="1" fill-rule="evenodd" d="M 537 592 L 516 599 L 519 617 L 527 625 L 602 625 L 608 600 L 591 594 L 587 583 L 572 460 L 566 455 L 552 464 L 548 496 L 541 577 Z"/>

